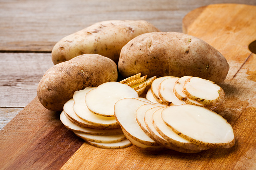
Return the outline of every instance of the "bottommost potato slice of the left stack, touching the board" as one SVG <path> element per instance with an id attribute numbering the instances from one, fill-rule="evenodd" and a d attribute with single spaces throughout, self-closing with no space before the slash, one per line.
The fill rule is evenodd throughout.
<path id="1" fill-rule="evenodd" d="M 87 141 L 87 143 L 103 149 L 121 149 L 132 145 L 132 143 L 128 139 L 115 143 L 97 143 L 91 141 Z"/>

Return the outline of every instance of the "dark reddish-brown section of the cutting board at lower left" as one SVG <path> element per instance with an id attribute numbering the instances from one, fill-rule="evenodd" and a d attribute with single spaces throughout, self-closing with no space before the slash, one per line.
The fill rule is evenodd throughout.
<path id="1" fill-rule="evenodd" d="M 58 169 L 81 146 L 59 120 L 35 98 L 0 131 L 1 169 Z M 14 163 L 15 162 L 15 163 Z"/>

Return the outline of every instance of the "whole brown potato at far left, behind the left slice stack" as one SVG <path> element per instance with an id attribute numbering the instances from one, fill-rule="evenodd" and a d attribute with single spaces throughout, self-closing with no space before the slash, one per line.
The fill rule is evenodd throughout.
<path id="1" fill-rule="evenodd" d="M 84 54 L 57 64 L 46 71 L 37 87 L 41 104 L 52 111 L 62 111 L 77 90 L 117 81 L 117 65 L 98 54 Z"/>

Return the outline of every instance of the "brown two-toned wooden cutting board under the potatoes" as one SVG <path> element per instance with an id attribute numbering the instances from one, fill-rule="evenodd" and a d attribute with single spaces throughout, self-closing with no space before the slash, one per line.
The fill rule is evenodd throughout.
<path id="1" fill-rule="evenodd" d="M 225 101 L 216 112 L 234 129 L 232 148 L 193 154 L 96 148 L 67 130 L 60 113 L 45 109 L 36 97 L 0 131 L 0 169 L 256 169 L 256 55 L 248 50 L 256 40 L 256 6 L 202 7 L 184 18 L 183 29 L 228 60 L 230 70 L 220 85 Z"/>

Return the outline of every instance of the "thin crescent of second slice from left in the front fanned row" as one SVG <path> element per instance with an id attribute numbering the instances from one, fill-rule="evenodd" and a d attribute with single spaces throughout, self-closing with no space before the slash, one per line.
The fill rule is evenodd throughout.
<path id="1" fill-rule="evenodd" d="M 155 103 L 155 104 L 144 104 L 142 106 L 140 106 L 137 110 L 136 110 L 136 120 L 139 124 L 139 126 L 141 127 L 141 129 L 147 134 L 149 135 L 149 131 L 147 130 L 146 124 L 145 124 L 145 113 L 147 110 L 154 108 L 154 107 L 161 107 L 162 104 L 160 103 Z M 151 136 L 149 136 L 151 137 Z"/>

